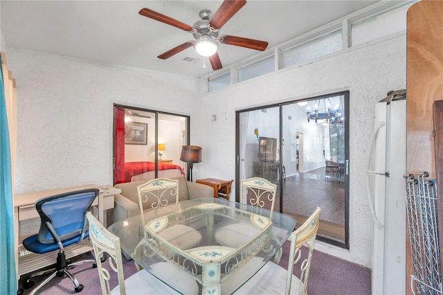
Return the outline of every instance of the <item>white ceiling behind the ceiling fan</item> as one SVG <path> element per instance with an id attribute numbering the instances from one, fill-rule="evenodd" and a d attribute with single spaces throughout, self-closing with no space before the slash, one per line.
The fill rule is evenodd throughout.
<path id="1" fill-rule="evenodd" d="M 11 48 L 40 51 L 85 60 L 134 66 L 201 77 L 212 73 L 194 48 L 168 60 L 157 55 L 194 39 L 190 33 L 138 15 L 150 8 L 185 24 L 199 20 L 199 11 L 213 13 L 222 1 L 7 1 L 1 3 L 1 32 Z M 220 30 L 269 42 L 267 50 L 350 15 L 378 1 L 249 0 Z M 224 67 L 257 51 L 220 44 Z M 183 60 L 197 58 L 197 62 Z"/>

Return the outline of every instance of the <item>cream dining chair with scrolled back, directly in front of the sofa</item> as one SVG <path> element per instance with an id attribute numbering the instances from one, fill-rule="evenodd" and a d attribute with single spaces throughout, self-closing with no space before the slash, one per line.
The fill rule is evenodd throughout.
<path id="1" fill-rule="evenodd" d="M 143 224 L 146 224 L 145 213 L 150 209 L 147 204 L 152 204 L 155 211 L 161 207 L 175 204 L 179 209 L 179 181 L 177 179 L 156 178 L 137 186 L 138 206 L 140 208 Z M 153 213 L 150 211 L 149 213 Z M 175 224 L 159 233 L 159 236 L 174 246 L 187 250 L 197 247 L 201 242 L 201 233 L 191 226 Z"/>

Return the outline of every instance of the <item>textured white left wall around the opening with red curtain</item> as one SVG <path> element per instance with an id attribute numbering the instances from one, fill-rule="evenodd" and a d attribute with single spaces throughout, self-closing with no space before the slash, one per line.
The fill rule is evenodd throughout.
<path id="1" fill-rule="evenodd" d="M 114 103 L 192 117 L 201 105 L 197 78 L 12 48 L 8 66 L 17 80 L 15 193 L 111 184 Z M 198 125 L 190 134 L 199 141 Z"/>

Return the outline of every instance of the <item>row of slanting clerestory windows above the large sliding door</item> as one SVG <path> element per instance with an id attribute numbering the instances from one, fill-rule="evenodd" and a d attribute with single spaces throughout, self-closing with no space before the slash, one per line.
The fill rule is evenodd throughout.
<path id="1" fill-rule="evenodd" d="M 265 51 L 253 57 L 253 60 L 256 60 L 256 62 L 252 60 L 251 64 L 246 66 L 240 65 L 243 64 L 243 62 L 233 64 L 230 66 L 231 72 L 235 73 L 234 71 L 237 71 L 237 79 L 231 77 L 230 73 L 213 78 L 208 82 L 208 92 L 230 86 L 231 82 L 246 81 L 259 75 L 278 71 L 288 66 L 302 64 L 303 62 L 318 60 L 320 57 L 330 53 L 341 51 L 343 49 L 343 38 L 351 38 L 348 46 L 355 46 L 404 31 L 406 30 L 406 13 L 408 8 L 415 2 L 416 1 L 408 1 L 404 5 L 395 7 L 388 5 L 388 8 L 381 6 L 377 9 L 379 11 L 383 10 L 383 12 L 379 13 L 379 15 L 372 15 L 371 17 L 368 17 L 366 13 L 372 12 L 362 11 L 358 15 L 345 19 L 346 21 L 341 21 L 342 28 L 343 26 L 347 26 L 347 24 L 351 24 L 350 30 L 343 31 L 338 29 L 339 24 L 337 21 L 334 21 L 321 30 L 322 32 L 331 30 L 332 33 L 318 37 L 318 35 L 316 35 L 318 34 L 318 30 L 314 30 L 312 33 L 303 35 L 302 38 L 293 39 L 291 45 L 286 43 L 286 45 L 283 44 L 281 47 L 278 46 L 277 49 L 281 49 L 282 51 L 281 54 L 278 53 L 277 56 L 269 53 L 269 51 Z M 300 42 L 304 42 L 304 40 L 309 37 L 313 39 L 300 44 Z M 293 47 L 284 49 L 284 46 Z M 276 66 L 276 64 L 278 64 L 278 66 Z"/>

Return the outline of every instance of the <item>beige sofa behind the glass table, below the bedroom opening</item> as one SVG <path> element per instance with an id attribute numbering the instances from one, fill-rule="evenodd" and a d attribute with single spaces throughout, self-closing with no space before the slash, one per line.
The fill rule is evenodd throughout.
<path id="1" fill-rule="evenodd" d="M 170 179 L 179 179 L 179 201 L 186 199 L 198 199 L 201 197 L 213 197 L 214 189 L 204 184 L 186 181 L 183 177 L 170 177 Z M 107 224 L 110 226 L 114 222 L 125 220 L 129 217 L 140 214 L 138 208 L 137 186 L 147 181 L 133 181 L 124 184 L 116 184 L 114 187 L 120 188 L 121 193 L 114 195 L 114 208 L 107 213 Z M 144 210 L 152 208 L 152 204 L 144 205 Z"/>

